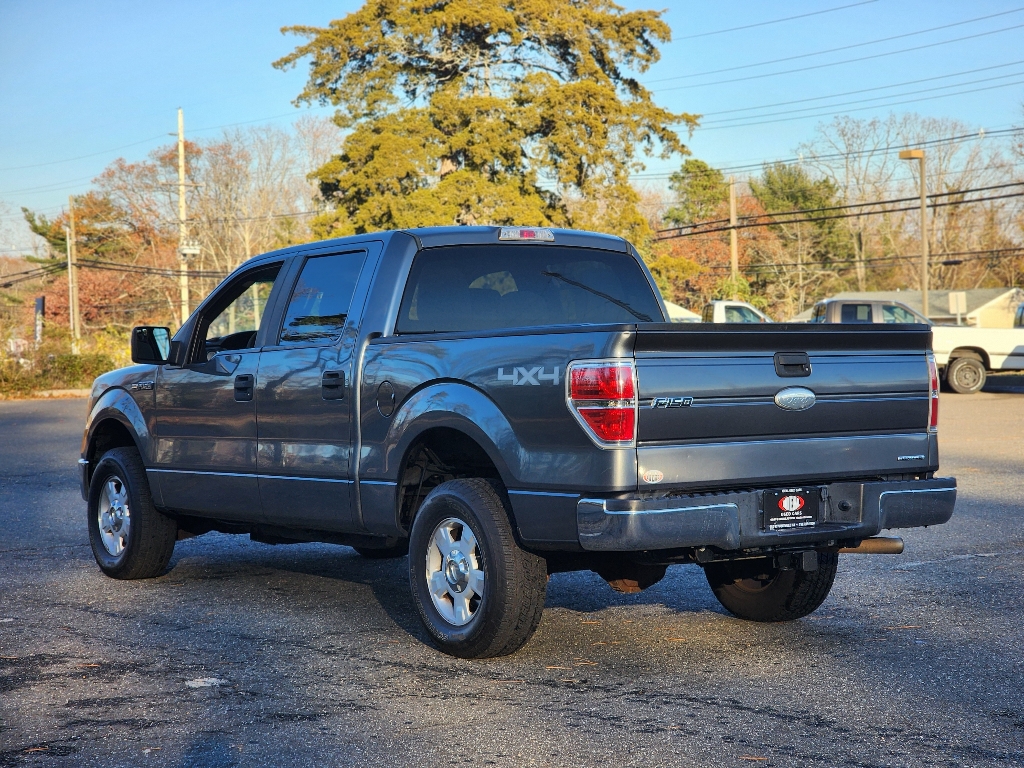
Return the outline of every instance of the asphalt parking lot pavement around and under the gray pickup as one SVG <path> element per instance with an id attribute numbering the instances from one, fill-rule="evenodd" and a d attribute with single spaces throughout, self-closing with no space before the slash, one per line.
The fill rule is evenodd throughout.
<path id="1" fill-rule="evenodd" d="M 812 616 L 734 620 L 695 566 L 558 574 L 490 662 L 425 643 L 404 560 L 344 547 L 208 535 L 104 578 L 84 400 L 0 402 L 0 766 L 1024 766 L 1024 393 L 988 389 L 942 396 L 953 520 L 844 556 Z"/>

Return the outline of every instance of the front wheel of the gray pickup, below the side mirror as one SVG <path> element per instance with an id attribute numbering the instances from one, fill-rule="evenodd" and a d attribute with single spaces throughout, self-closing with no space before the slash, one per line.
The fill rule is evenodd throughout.
<path id="1" fill-rule="evenodd" d="M 125 513 L 123 502 L 127 502 Z M 117 512 L 111 514 L 115 508 Z M 178 524 L 153 506 L 138 451 L 117 447 L 103 454 L 89 482 L 87 515 L 92 554 L 106 575 L 152 579 L 167 570 Z M 119 518 L 116 523 L 115 518 Z"/>

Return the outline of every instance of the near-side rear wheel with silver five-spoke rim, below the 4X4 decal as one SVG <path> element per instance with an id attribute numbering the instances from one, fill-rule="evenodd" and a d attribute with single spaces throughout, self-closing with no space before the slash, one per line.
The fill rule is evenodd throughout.
<path id="1" fill-rule="evenodd" d="M 413 601 L 431 639 L 445 653 L 462 658 L 507 655 L 521 648 L 541 623 L 548 586 L 547 563 L 516 543 L 509 512 L 505 493 L 489 480 L 449 480 L 430 492 L 413 521 L 409 544 Z M 460 525 L 468 525 L 472 539 Z M 434 537 L 442 526 L 458 537 L 452 539 L 455 543 L 451 547 L 465 547 L 472 552 L 462 561 L 468 563 L 469 572 L 482 571 L 482 595 L 472 589 L 477 582 L 468 582 L 459 590 L 467 600 L 462 616 L 468 620 L 463 624 L 456 623 L 460 616 L 453 598 L 457 595 L 450 592 L 446 597 L 432 597 L 428 585 L 427 570 L 432 562 L 439 563 L 439 569 L 433 571 L 435 580 L 451 572 L 444 563 L 449 568 L 458 564 L 435 544 Z M 451 554 L 456 550 L 452 549 Z M 459 573 L 458 569 L 454 572 Z M 437 581 L 436 585 L 443 583 Z M 459 589 L 457 583 L 449 582 L 449 586 Z M 451 620 L 438 608 L 445 607 L 445 599 L 453 603 Z"/>

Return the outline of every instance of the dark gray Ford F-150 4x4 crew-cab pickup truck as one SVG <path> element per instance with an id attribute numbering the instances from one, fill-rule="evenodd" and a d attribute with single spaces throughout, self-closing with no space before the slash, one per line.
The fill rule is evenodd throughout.
<path id="1" fill-rule="evenodd" d="M 511 653 L 551 573 L 637 592 L 702 566 L 733 614 L 804 616 L 841 552 L 943 523 L 927 327 L 667 321 L 636 250 L 445 227 L 258 256 L 92 387 L 99 567 L 211 530 L 409 555 L 442 650 Z"/>

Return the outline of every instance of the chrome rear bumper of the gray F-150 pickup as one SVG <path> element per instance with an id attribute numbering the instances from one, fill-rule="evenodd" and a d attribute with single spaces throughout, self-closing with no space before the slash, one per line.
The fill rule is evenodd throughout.
<path id="1" fill-rule="evenodd" d="M 763 529 L 760 490 L 673 499 L 581 499 L 580 545 L 601 552 L 817 545 L 866 539 L 883 528 L 939 525 L 952 516 L 956 502 L 952 477 L 835 482 L 822 487 L 826 496 L 818 524 L 792 531 Z"/>

